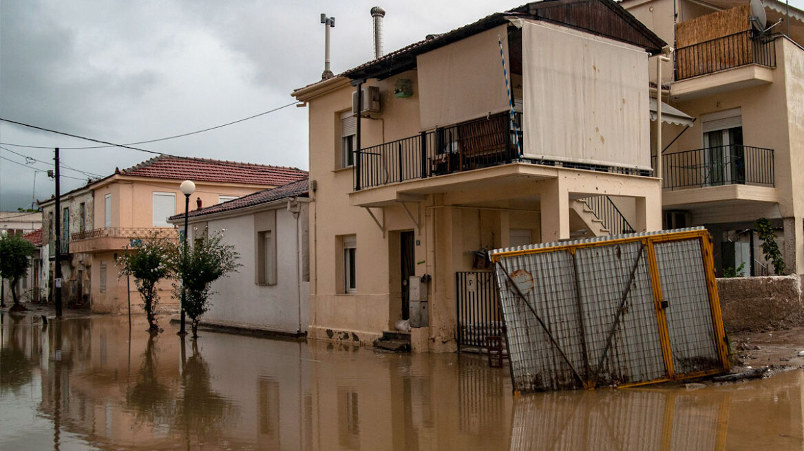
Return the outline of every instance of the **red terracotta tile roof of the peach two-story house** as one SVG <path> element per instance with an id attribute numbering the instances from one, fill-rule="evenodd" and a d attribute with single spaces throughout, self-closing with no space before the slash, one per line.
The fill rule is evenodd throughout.
<path id="1" fill-rule="evenodd" d="M 247 185 L 285 185 L 307 177 L 307 171 L 285 166 L 160 155 L 116 174 L 174 180 L 213 181 Z"/>

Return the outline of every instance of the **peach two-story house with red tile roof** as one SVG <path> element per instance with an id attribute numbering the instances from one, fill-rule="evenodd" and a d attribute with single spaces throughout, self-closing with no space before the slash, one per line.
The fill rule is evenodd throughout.
<path id="1" fill-rule="evenodd" d="M 60 205 L 62 224 L 57 225 L 62 237 L 65 305 L 75 300 L 88 303 L 92 311 L 127 310 L 129 291 L 126 280 L 118 278 L 117 255 L 133 240 L 178 239 L 178 230 L 167 219 L 184 212 L 185 196 L 179 190 L 182 181 L 195 182 L 190 208 L 197 209 L 306 176 L 306 171 L 295 168 L 157 156 L 129 169 L 116 169 L 109 177 L 65 193 Z M 47 237 L 43 241 L 53 243 L 55 201 L 40 205 L 43 236 Z M 55 250 L 47 254 L 53 257 Z M 130 290 L 133 311 L 142 311 L 133 281 Z M 160 297 L 164 307 L 178 307 L 178 300 L 170 297 L 169 282 L 160 287 Z"/>

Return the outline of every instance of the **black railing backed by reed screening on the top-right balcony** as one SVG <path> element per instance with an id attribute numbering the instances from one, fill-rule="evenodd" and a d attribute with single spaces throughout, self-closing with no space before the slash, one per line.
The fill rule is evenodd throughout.
<path id="1" fill-rule="evenodd" d="M 675 79 L 724 71 L 747 64 L 776 67 L 776 36 L 755 36 L 753 30 L 675 49 Z"/>

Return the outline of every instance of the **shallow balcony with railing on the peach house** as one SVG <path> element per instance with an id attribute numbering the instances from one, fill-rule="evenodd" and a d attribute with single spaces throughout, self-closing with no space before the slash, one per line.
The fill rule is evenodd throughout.
<path id="1" fill-rule="evenodd" d="M 85 230 L 71 235 L 72 253 L 102 252 L 120 250 L 130 245 L 134 239 L 166 238 L 178 240 L 178 229 L 162 227 L 104 227 Z"/>

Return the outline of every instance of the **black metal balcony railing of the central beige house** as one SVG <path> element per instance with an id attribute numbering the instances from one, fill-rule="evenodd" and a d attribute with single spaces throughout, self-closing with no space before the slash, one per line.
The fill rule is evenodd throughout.
<path id="1" fill-rule="evenodd" d="M 523 142 L 515 124 L 500 113 L 355 151 L 355 190 L 510 163 Z"/>

